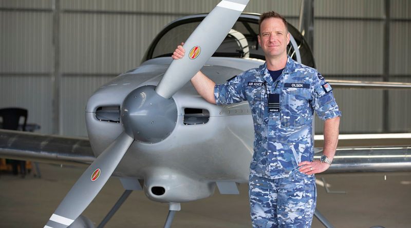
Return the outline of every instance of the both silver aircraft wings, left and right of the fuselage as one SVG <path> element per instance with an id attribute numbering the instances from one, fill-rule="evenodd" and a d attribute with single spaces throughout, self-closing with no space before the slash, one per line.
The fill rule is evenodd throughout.
<path id="1" fill-rule="evenodd" d="M 316 135 L 314 159 L 324 137 Z M 390 145 L 390 146 L 388 146 Z M 95 160 L 87 138 L 0 130 L 0 157 L 45 163 L 88 165 Z M 327 173 L 411 171 L 411 134 L 340 135 Z"/>

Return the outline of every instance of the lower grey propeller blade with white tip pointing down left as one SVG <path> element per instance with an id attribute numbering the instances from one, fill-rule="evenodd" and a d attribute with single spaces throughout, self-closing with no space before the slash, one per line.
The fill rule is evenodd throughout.
<path id="1" fill-rule="evenodd" d="M 134 138 L 125 132 L 90 164 L 51 215 L 45 228 L 67 227 L 83 213 L 113 174 Z"/>

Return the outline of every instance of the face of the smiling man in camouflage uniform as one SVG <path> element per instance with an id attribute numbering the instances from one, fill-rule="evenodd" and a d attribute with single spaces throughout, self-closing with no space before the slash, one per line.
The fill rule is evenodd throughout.
<path id="1" fill-rule="evenodd" d="M 258 44 L 263 49 L 266 58 L 286 54 L 290 35 L 281 18 L 270 17 L 261 23 Z"/>

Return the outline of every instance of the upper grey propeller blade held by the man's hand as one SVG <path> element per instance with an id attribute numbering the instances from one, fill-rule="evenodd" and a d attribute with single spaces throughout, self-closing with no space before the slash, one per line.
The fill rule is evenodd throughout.
<path id="1" fill-rule="evenodd" d="M 170 98 L 204 66 L 248 2 L 249 0 L 223 0 L 202 20 L 184 43 L 184 57 L 172 61 L 158 84 L 156 92 L 160 96 Z"/>

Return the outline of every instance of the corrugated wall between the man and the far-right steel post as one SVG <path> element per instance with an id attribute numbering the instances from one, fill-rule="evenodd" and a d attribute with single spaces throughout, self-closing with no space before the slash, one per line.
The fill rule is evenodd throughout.
<path id="1" fill-rule="evenodd" d="M 315 0 L 314 56 L 326 79 L 382 81 L 384 0 Z M 383 131 L 383 91 L 334 90 L 341 133 Z M 410 107 L 411 108 L 411 107 Z M 316 118 L 315 132 L 323 132 Z"/>

